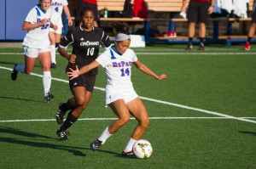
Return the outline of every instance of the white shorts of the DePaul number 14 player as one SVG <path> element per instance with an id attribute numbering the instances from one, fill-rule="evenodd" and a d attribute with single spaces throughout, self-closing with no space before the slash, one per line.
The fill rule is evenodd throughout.
<path id="1" fill-rule="evenodd" d="M 135 91 L 131 93 L 106 93 L 106 105 L 113 103 L 118 99 L 123 99 L 125 104 L 138 97 Z"/>

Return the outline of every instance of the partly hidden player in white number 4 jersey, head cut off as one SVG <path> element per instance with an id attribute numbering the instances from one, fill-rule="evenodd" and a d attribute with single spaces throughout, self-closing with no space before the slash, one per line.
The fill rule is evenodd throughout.
<path id="1" fill-rule="evenodd" d="M 51 10 L 52 16 L 51 21 L 58 25 L 58 29 L 55 31 L 52 28 L 49 28 L 49 41 L 50 41 L 50 55 L 51 55 L 51 68 L 56 67 L 56 48 L 58 48 L 59 43 L 61 42 L 61 34 L 62 34 L 62 11 L 67 15 L 67 25 L 72 26 L 73 21 L 70 16 L 69 9 L 67 7 L 67 0 L 52 0 L 51 1 Z"/>

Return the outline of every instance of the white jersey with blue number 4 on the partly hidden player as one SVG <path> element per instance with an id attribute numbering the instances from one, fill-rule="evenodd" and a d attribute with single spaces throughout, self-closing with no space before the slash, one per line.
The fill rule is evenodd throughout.
<path id="1" fill-rule="evenodd" d="M 52 23 L 54 23 L 55 25 L 58 25 L 58 27 L 63 27 L 62 24 L 62 11 L 64 6 L 67 6 L 67 0 L 52 0 L 51 1 L 51 5 L 50 8 L 52 10 L 52 16 L 51 16 L 51 21 Z"/>

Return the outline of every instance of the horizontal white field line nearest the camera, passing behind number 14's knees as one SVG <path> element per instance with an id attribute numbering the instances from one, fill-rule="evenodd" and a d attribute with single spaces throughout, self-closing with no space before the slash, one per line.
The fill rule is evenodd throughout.
<path id="1" fill-rule="evenodd" d="M 240 117 L 243 119 L 256 119 L 256 117 Z M 79 121 L 113 121 L 117 118 L 80 118 Z M 131 120 L 135 120 L 135 118 L 130 118 Z M 233 119 L 230 117 L 149 117 L 149 119 L 154 120 L 201 120 L 201 119 Z M 31 120 L 8 120 L 8 121 L 0 121 L 0 122 L 31 122 L 31 121 L 56 121 L 55 119 L 31 119 Z"/>

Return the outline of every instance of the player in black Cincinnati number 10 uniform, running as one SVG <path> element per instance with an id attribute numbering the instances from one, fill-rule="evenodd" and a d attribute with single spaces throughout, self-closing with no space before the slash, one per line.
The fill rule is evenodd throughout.
<path id="1" fill-rule="evenodd" d="M 82 25 L 68 31 L 67 36 L 61 40 L 58 48 L 61 56 L 68 60 L 67 70 L 69 68 L 74 70 L 76 65 L 79 68 L 89 65 L 97 58 L 100 44 L 104 48 L 110 48 L 111 46 L 109 37 L 102 28 L 93 26 L 94 13 L 92 8 L 82 8 L 80 16 Z M 72 54 L 67 54 L 65 50 L 69 44 L 73 44 Z M 73 93 L 73 98 L 68 99 L 67 103 L 61 103 L 56 113 L 56 121 L 61 125 L 63 116 L 67 110 L 71 110 L 67 115 L 66 121 L 56 132 L 61 140 L 67 139 L 67 128 L 71 127 L 78 120 L 79 115 L 82 114 L 90 102 L 96 82 L 96 74 L 97 68 L 90 70 L 83 76 L 69 80 L 69 87 Z"/>

